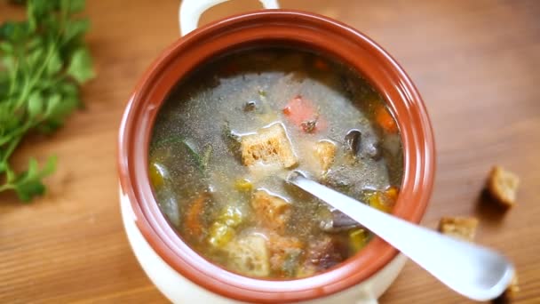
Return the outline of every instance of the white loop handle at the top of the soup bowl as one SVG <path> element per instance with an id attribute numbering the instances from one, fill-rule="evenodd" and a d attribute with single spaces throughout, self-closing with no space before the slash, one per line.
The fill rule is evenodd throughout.
<path id="1" fill-rule="evenodd" d="M 197 28 L 199 18 L 210 7 L 226 2 L 227 0 L 182 0 L 179 8 L 180 35 L 186 36 Z M 278 9 L 277 0 L 259 0 L 265 9 Z"/>

